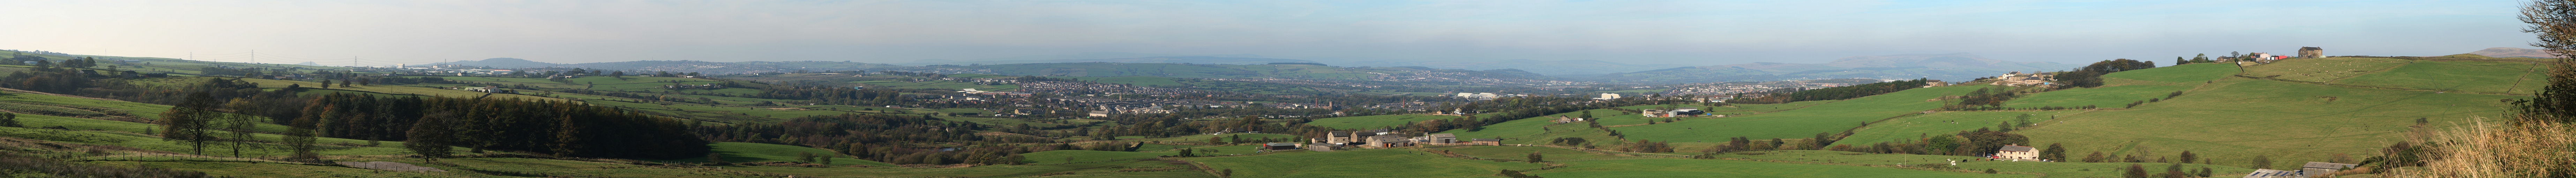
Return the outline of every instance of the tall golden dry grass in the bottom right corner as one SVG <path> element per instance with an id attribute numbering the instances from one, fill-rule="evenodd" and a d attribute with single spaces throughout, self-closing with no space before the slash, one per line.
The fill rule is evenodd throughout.
<path id="1" fill-rule="evenodd" d="M 2391 178 L 2576 178 L 2576 124 L 2522 121 L 2488 126 L 2483 121 L 2437 134 L 2447 150 L 2429 155 L 2421 170 L 2393 170 Z"/>

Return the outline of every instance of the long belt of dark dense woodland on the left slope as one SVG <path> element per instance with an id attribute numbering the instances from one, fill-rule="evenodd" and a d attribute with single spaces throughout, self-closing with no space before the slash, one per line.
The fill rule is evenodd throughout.
<path id="1" fill-rule="evenodd" d="M 180 116 L 263 116 L 255 121 L 312 129 L 314 137 L 386 139 L 402 142 L 412 124 L 425 116 L 453 124 L 456 147 L 520 150 L 567 157 L 696 157 L 706 142 L 688 134 L 677 119 L 644 116 L 603 106 L 559 101 L 500 101 L 500 98 L 422 98 L 422 95 L 296 95 L 312 90 L 289 85 L 263 90 L 234 77 L 204 77 L 175 85 L 134 85 L 131 77 L 98 75 L 95 70 L 41 67 L 0 77 L 0 88 L 64 93 L 88 98 L 118 98 L 137 103 L 180 106 L 173 111 L 219 111 Z M 402 80 L 430 83 L 430 80 Z M 363 83 L 361 83 L 363 85 Z M 443 114 L 433 114 L 443 111 Z M 191 119 L 129 119 L 155 124 L 219 124 Z M 301 121 L 301 124 L 299 124 Z M 211 126 L 180 126 L 211 129 Z M 170 132 L 162 132 L 165 137 Z M 175 139 L 214 139 L 180 134 Z"/>

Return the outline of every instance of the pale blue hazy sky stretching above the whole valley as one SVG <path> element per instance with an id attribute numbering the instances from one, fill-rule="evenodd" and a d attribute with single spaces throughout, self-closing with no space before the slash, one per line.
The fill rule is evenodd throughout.
<path id="1" fill-rule="evenodd" d="M 0 49 L 216 62 L 1265 54 L 2014 62 L 2527 46 L 2524 0 L 0 0 Z M 252 54 L 255 52 L 255 54 Z"/>

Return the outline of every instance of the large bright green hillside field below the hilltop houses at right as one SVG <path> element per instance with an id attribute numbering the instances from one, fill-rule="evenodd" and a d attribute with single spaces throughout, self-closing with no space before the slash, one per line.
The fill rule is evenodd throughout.
<path id="1" fill-rule="evenodd" d="M 2223 93 L 2221 93 L 2223 90 Z M 2269 155 L 2280 165 L 2329 155 L 2370 155 L 2403 137 L 2416 119 L 2432 126 L 2491 119 L 2509 98 L 2476 93 L 2365 90 L 2275 80 L 2221 80 L 2164 103 L 2063 116 L 2022 129 L 2032 144 L 2063 142 L 2071 152 L 2174 155 L 2192 150 L 2221 165 Z"/>

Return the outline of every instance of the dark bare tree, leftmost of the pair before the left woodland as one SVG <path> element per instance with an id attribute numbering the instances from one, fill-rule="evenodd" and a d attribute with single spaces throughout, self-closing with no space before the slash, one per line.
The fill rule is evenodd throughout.
<path id="1" fill-rule="evenodd" d="M 206 134 L 209 129 L 214 129 L 214 116 L 216 114 L 211 93 L 206 90 L 188 93 L 185 101 L 180 101 L 170 111 L 162 111 L 162 139 L 185 142 L 191 150 L 188 155 L 206 155 L 206 144 L 216 142 L 214 134 Z"/>

